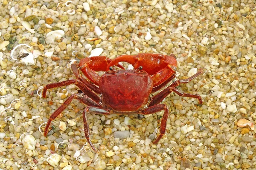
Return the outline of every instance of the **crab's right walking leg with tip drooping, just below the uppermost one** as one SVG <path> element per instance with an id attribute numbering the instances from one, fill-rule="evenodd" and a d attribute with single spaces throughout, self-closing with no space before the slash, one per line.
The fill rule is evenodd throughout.
<path id="1" fill-rule="evenodd" d="M 183 91 L 180 91 L 177 88 L 168 87 L 168 88 L 164 89 L 163 91 L 161 91 L 156 96 L 154 96 L 153 100 L 149 103 L 148 107 L 157 105 L 158 103 L 162 102 L 163 99 L 166 98 L 166 96 L 168 96 L 170 93 L 172 93 L 172 91 L 175 92 L 179 96 L 196 98 L 196 99 L 198 99 L 198 102 L 200 104 L 203 103 L 203 100 L 199 94 L 184 93 Z"/>

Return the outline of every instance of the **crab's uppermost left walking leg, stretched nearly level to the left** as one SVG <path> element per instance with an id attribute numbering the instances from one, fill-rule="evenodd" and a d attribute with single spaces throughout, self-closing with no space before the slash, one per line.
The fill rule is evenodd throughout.
<path id="1" fill-rule="evenodd" d="M 48 89 L 51 88 L 59 88 L 66 85 L 75 84 L 77 87 L 81 89 L 81 91 L 86 94 L 88 97 L 92 98 L 94 101 L 99 102 L 100 98 L 96 94 L 93 93 L 93 91 L 90 90 L 86 85 L 84 85 L 80 80 L 78 79 L 72 79 L 72 80 L 66 80 L 63 82 L 55 82 L 44 86 L 42 96 L 46 97 L 46 92 Z"/>

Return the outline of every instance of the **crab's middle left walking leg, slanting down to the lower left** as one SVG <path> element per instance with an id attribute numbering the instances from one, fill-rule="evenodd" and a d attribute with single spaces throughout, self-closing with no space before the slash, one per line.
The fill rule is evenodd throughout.
<path id="1" fill-rule="evenodd" d="M 93 99 L 90 99 L 88 96 L 84 94 L 73 94 L 67 100 L 58 108 L 56 109 L 55 112 L 52 113 L 52 115 L 49 117 L 48 122 L 46 124 L 45 130 L 44 130 L 44 136 L 47 135 L 49 126 L 51 125 L 51 122 L 59 115 L 61 114 L 62 111 L 64 111 L 68 105 L 70 105 L 71 101 L 73 99 L 78 99 L 80 102 L 84 103 L 85 105 L 88 106 L 93 106 L 93 107 L 101 107 L 101 105 Z"/>

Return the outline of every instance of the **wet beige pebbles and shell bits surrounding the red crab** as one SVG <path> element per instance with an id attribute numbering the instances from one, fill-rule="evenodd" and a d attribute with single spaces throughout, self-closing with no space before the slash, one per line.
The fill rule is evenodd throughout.
<path id="1" fill-rule="evenodd" d="M 84 57 L 177 57 L 178 88 L 163 111 L 87 115 L 70 64 Z M 131 65 L 122 63 L 125 68 Z M 99 72 L 100 75 L 104 72 Z M 256 170 L 256 0 L 1 0 L 0 170 Z M 151 96 L 152 97 L 152 96 Z"/>

